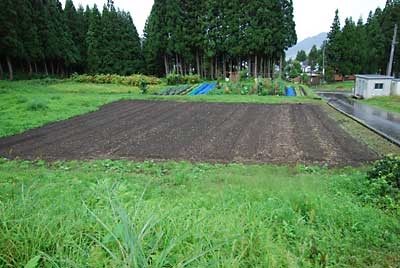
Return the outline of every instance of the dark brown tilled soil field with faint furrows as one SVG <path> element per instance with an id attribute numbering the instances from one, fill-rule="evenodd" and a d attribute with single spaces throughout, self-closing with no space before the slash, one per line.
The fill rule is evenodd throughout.
<path id="1" fill-rule="evenodd" d="M 317 105 L 161 101 L 119 101 L 0 139 L 0 156 L 334 166 L 378 157 Z"/>

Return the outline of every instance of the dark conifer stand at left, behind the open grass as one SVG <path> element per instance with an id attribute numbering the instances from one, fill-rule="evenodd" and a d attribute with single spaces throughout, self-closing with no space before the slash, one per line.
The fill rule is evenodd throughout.
<path id="1" fill-rule="evenodd" d="M 0 76 L 19 72 L 132 74 L 143 70 L 138 32 L 129 13 L 112 1 L 98 8 L 66 0 L 0 1 Z"/>

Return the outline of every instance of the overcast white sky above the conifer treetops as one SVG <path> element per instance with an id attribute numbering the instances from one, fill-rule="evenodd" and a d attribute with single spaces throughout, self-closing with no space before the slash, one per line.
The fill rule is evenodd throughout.
<path id="1" fill-rule="evenodd" d="M 76 6 L 78 4 L 92 6 L 96 3 L 100 8 L 105 2 L 106 0 L 74 0 Z M 115 6 L 131 13 L 141 35 L 153 0 L 114 0 L 114 2 Z M 385 3 L 386 0 L 294 0 L 298 39 L 301 41 L 321 32 L 328 32 L 337 8 L 342 21 L 349 16 L 358 20 L 360 16 L 366 19 L 370 10 L 375 11 L 378 6 L 383 8 Z"/>

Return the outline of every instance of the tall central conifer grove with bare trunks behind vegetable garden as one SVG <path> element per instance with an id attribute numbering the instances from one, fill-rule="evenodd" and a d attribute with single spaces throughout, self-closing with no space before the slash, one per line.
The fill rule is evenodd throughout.
<path id="1" fill-rule="evenodd" d="M 244 65 L 239 58 L 255 62 L 257 57 L 259 67 L 261 59 L 274 62 L 297 42 L 293 2 L 287 0 L 158 0 L 144 36 L 149 73 L 194 69 L 211 79 L 224 76 L 232 64 L 239 70 Z"/>

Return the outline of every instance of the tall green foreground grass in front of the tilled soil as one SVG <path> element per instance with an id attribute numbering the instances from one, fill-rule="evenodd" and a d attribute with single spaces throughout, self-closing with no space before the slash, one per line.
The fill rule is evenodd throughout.
<path id="1" fill-rule="evenodd" d="M 0 162 L 0 266 L 396 267 L 365 169 Z"/>

